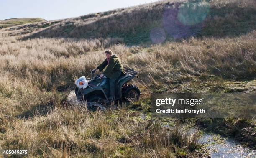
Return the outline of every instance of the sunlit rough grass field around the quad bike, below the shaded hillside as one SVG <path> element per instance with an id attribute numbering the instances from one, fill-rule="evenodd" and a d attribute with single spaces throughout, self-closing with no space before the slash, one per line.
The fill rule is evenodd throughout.
<path id="1" fill-rule="evenodd" d="M 110 106 L 104 112 L 67 104 L 67 90 L 77 77 L 90 76 L 90 70 L 104 59 L 104 48 L 77 54 L 84 48 L 84 41 L 35 39 L 25 43 L 13 37 L 2 38 L 1 146 L 26 148 L 31 156 L 47 157 L 207 155 L 198 142 L 200 133 L 180 130 L 191 120 L 177 125 L 179 120 L 151 118 L 150 93 L 255 92 L 254 36 L 252 32 L 223 41 L 190 38 L 151 47 L 110 46 L 123 64 L 139 71 L 139 79 L 132 83 L 142 94 L 138 102 L 121 104 L 118 109 Z M 143 115 L 146 119 L 141 119 Z M 170 131 L 164 122 L 175 128 Z M 206 131 L 255 145 L 255 120 L 192 122 Z M 215 125 L 220 127 L 216 129 Z"/>

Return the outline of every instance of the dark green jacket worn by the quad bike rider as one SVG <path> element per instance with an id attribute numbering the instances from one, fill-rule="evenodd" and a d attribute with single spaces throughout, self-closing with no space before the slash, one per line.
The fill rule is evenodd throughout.
<path id="1" fill-rule="evenodd" d="M 103 74 L 110 79 L 120 76 L 120 73 L 123 72 L 123 65 L 121 61 L 118 59 L 118 57 L 115 56 L 115 54 L 110 57 L 109 64 L 107 59 L 105 59 L 103 63 L 100 64 L 97 68 L 99 68 L 99 70 L 102 71 L 106 66 L 107 68 L 105 69 Z"/>

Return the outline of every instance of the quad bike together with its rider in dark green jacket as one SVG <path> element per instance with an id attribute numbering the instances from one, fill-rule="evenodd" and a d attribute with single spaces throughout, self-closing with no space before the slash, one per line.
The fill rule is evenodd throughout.
<path id="1" fill-rule="evenodd" d="M 127 84 L 138 72 L 123 67 L 118 57 L 115 54 L 112 55 L 111 50 L 105 51 L 105 56 L 105 61 L 92 71 L 92 79 L 87 79 L 88 86 L 83 89 L 76 87 L 77 99 L 87 100 L 87 102 L 138 99 L 140 96 L 138 87 Z M 105 67 L 106 69 L 103 71 Z M 103 71 L 103 74 L 94 77 L 97 69 Z"/>

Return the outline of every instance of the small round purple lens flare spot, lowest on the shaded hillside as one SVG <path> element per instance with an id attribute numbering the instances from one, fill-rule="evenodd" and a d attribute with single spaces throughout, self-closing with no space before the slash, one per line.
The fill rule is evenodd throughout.
<path id="1" fill-rule="evenodd" d="M 150 31 L 150 39 L 154 44 L 163 43 L 166 39 L 164 29 L 159 27 L 153 28 Z"/>

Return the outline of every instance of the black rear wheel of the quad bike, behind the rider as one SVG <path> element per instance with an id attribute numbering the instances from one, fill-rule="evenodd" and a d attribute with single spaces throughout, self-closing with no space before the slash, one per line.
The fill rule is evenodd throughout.
<path id="1" fill-rule="evenodd" d="M 127 86 L 123 87 L 123 99 L 129 100 L 138 100 L 141 95 L 140 89 L 132 84 L 128 84 Z"/>

